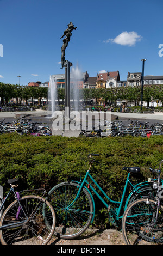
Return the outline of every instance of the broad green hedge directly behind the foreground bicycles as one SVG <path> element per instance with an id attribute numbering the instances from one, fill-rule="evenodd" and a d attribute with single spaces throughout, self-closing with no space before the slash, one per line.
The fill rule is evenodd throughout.
<path id="1" fill-rule="evenodd" d="M 122 168 L 141 167 L 141 176 L 133 178 L 133 182 L 143 181 L 151 176 L 149 167 L 158 168 L 162 152 L 162 136 L 68 138 L 4 134 L 0 136 L 0 184 L 6 192 L 7 179 L 17 176 L 25 187 L 45 187 L 49 191 L 68 178 L 83 178 L 89 167 L 87 155 L 99 153 L 99 164 L 95 164 L 91 175 L 111 198 L 118 200 L 127 178 Z M 98 200 L 96 205 L 95 223 L 107 224 L 108 212 Z"/>

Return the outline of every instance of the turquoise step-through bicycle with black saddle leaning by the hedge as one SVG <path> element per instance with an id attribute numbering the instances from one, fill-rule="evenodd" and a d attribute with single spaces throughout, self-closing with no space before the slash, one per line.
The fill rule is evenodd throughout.
<path id="1" fill-rule="evenodd" d="M 53 206 L 56 215 L 54 235 L 62 239 L 74 239 L 78 237 L 89 227 L 90 223 L 93 222 L 96 208 L 91 191 L 96 194 L 105 208 L 108 209 L 109 221 L 119 227 L 121 227 L 123 212 L 129 203 L 145 195 L 154 197 L 153 188 L 149 185 L 148 181 L 137 185 L 131 183 L 130 175 L 140 173 L 140 168 L 124 167 L 123 170 L 128 172 L 128 176 L 121 201 L 117 202 L 110 199 L 90 175 L 93 163 L 97 162 L 92 156 L 99 156 L 99 154 L 89 154 L 90 167 L 83 181 L 78 182 L 72 180 L 70 182 L 62 182 L 54 186 L 48 193 L 48 200 Z M 106 198 L 105 200 L 91 185 L 90 181 L 87 180 L 88 178 L 103 194 Z M 128 185 L 131 186 L 132 192 L 129 194 L 126 202 L 124 202 Z M 111 208 L 111 204 L 114 204 L 114 208 Z M 123 206 L 123 204 L 125 205 Z"/>

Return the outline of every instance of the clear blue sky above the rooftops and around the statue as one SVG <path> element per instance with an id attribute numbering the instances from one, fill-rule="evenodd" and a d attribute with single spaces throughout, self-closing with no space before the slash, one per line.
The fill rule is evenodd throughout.
<path id="1" fill-rule="evenodd" d="M 65 58 L 81 72 L 163 75 L 162 0 L 0 0 L 0 82 L 46 82 L 61 68 L 63 32 L 77 26 Z M 162 47 L 163 48 L 163 47 Z M 3 51 L 2 51 L 3 50 Z M 162 51 L 163 53 L 163 51 Z"/>

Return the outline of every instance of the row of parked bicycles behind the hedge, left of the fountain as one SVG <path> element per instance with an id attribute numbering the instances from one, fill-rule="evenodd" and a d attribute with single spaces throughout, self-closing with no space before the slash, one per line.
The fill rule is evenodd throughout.
<path id="1" fill-rule="evenodd" d="M 51 136 L 52 130 L 48 125 L 34 122 L 28 118 L 18 118 L 13 122 L 0 121 L 0 133 L 17 132 L 19 134 L 28 134 L 33 136 Z"/>

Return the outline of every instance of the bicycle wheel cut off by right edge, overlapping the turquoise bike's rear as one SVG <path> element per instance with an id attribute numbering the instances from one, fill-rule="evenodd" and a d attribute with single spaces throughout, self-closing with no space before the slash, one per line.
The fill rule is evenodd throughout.
<path id="1" fill-rule="evenodd" d="M 131 203 L 124 212 L 122 233 L 127 245 L 153 245 L 163 243 L 163 206 L 158 220 L 156 200 L 142 198 Z"/>

